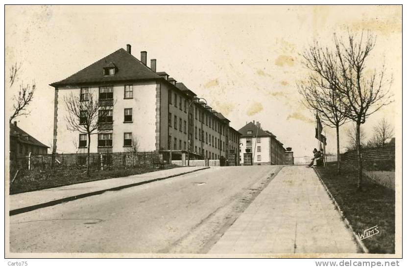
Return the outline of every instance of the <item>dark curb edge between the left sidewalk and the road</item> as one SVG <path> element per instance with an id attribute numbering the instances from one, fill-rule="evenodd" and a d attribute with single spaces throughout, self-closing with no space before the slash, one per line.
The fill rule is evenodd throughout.
<path id="1" fill-rule="evenodd" d="M 78 199 L 85 198 L 85 197 L 100 195 L 100 194 L 103 194 L 104 192 L 107 192 L 107 191 L 119 191 L 121 189 L 129 188 L 129 187 L 133 187 L 133 186 L 138 186 L 138 185 L 142 185 L 142 184 L 146 184 L 146 183 L 150 183 L 150 182 L 154 182 L 154 181 L 159 181 L 159 180 L 163 180 L 163 179 L 178 177 L 178 176 L 181 176 L 181 175 L 189 174 L 189 173 L 200 171 L 200 170 L 205 170 L 205 169 L 208 169 L 208 168 L 210 168 L 210 167 L 204 167 L 204 168 L 200 168 L 200 169 L 196 169 L 196 170 L 192 170 L 192 171 L 188 171 L 188 172 L 174 174 L 174 175 L 163 177 L 163 178 L 144 180 L 144 181 L 135 182 L 135 183 L 127 184 L 127 185 L 121 185 L 121 186 L 117 186 L 117 187 L 113 187 L 113 188 L 98 190 L 98 191 L 95 191 L 95 192 L 80 194 L 80 195 L 76 195 L 76 196 L 72 196 L 72 197 L 65 197 L 65 198 L 61 198 L 61 199 L 57 199 L 57 200 L 48 201 L 48 202 L 45 202 L 45 203 L 40 203 L 40 204 L 35 204 L 35 205 L 26 206 L 26 207 L 22 207 L 22 208 L 17 208 L 17 209 L 10 210 L 9 211 L 9 216 L 21 214 L 21 213 L 24 213 L 24 212 L 36 210 L 36 209 L 47 207 L 47 206 L 53 206 L 53 205 L 57 205 L 57 204 L 60 204 L 60 203 L 74 201 L 74 200 L 78 200 Z"/>

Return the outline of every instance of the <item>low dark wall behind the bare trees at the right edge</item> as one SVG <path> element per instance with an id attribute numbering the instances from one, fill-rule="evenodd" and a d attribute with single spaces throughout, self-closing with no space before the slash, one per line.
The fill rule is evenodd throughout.
<path id="1" fill-rule="evenodd" d="M 374 161 L 374 160 L 394 160 L 395 159 L 396 148 L 394 146 L 362 149 L 361 156 L 363 161 Z M 358 159 L 358 152 L 348 151 L 340 155 L 342 161 L 351 161 Z"/>

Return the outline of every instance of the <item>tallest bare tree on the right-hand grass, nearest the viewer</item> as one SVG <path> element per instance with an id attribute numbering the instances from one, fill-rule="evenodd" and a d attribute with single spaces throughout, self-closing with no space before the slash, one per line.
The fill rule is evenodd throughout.
<path id="1" fill-rule="evenodd" d="M 360 125 L 369 115 L 392 102 L 390 86 L 392 79 L 385 78 L 385 67 L 369 74 L 366 61 L 376 42 L 369 32 L 357 36 L 348 32 L 347 39 L 335 36 L 335 52 L 338 58 L 338 72 L 334 79 L 335 88 L 341 93 L 345 115 L 356 123 L 356 144 L 358 151 L 358 190 L 362 190 L 362 158 L 360 147 Z"/>

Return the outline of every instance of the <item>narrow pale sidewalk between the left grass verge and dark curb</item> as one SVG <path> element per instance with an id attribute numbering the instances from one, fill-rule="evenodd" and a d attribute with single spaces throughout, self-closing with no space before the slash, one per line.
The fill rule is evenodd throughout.
<path id="1" fill-rule="evenodd" d="M 85 196 L 91 196 L 114 188 L 126 187 L 133 184 L 171 178 L 186 173 L 206 169 L 207 167 L 179 167 L 159 170 L 140 175 L 122 178 L 101 179 L 83 183 L 76 183 L 62 187 L 49 188 L 39 191 L 10 195 L 10 215 L 24 212 L 24 208 L 48 206 L 56 203 L 71 201 Z M 59 201 L 59 202 L 58 202 Z M 48 205 L 46 205 L 48 204 Z M 27 211 L 32 209 L 26 209 Z"/>

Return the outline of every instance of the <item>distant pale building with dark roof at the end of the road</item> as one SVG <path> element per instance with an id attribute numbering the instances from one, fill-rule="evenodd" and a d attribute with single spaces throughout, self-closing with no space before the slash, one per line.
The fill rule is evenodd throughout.
<path id="1" fill-rule="evenodd" d="M 286 149 L 274 134 L 263 130 L 260 123 L 255 121 L 247 123 L 239 129 L 240 136 L 240 163 L 243 163 L 243 154 L 247 151 L 253 154 L 253 165 L 284 165 Z"/>

